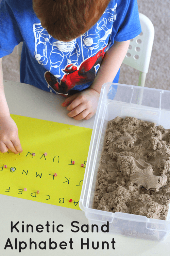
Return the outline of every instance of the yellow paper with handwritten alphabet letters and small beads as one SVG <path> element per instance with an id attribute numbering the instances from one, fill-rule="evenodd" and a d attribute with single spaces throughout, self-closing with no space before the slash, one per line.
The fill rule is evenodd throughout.
<path id="1" fill-rule="evenodd" d="M 19 115 L 11 117 L 17 124 L 23 152 L 0 152 L 0 194 L 80 210 L 78 202 L 92 129 Z"/>

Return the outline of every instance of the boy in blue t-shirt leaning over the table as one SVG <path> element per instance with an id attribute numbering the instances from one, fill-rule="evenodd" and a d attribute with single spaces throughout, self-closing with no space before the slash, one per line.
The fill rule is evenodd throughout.
<path id="1" fill-rule="evenodd" d="M 130 39 L 140 32 L 137 0 L 2 0 L 0 152 L 22 152 L 4 95 L 3 56 L 23 41 L 20 82 L 62 94 L 68 116 L 87 120 L 102 85 L 118 83 Z"/>

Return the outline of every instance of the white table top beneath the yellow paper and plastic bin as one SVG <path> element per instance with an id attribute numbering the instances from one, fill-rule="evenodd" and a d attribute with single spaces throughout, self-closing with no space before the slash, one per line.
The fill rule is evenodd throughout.
<path id="1" fill-rule="evenodd" d="M 69 118 L 67 116 L 68 111 L 66 108 L 61 106 L 61 103 L 64 101 L 62 96 L 47 93 L 38 88 L 35 88 L 32 85 L 5 80 L 4 89 L 11 114 L 39 118 L 64 124 L 77 125 L 87 128 L 93 127 L 95 116 L 89 120 L 81 121 L 76 121 L 72 118 Z M 11 221 L 13 221 L 13 224 L 19 221 L 17 226 L 20 230 L 19 233 L 16 230 L 11 233 Z M 34 232 L 22 233 L 22 221 L 24 221 L 24 225 L 33 225 Z M 49 222 L 50 227 L 52 226 L 53 221 L 55 223 L 55 227 L 59 224 L 62 224 L 64 226 L 64 231 L 59 233 L 55 229 L 55 232 L 53 233 L 52 229 L 49 228 L 49 233 L 46 231 L 46 229 L 44 229 L 43 232 L 38 233 L 35 230 L 35 227 L 38 224 L 41 224 L 45 227 L 47 221 Z M 92 233 L 89 231 L 88 233 L 83 233 L 80 230 L 77 233 L 73 233 L 71 232 L 72 221 L 78 221 L 79 227 L 81 227 L 83 224 L 88 224 L 83 211 L 0 195 L 0 255 L 170 255 L 170 234 L 167 236 L 165 241 L 155 242 L 123 237 L 103 232 Z M 7 247 L 6 250 L 4 250 L 4 246 L 8 238 L 10 238 L 13 250 L 11 250 L 11 247 Z M 17 238 L 17 250 L 15 249 L 15 238 Z M 37 243 L 37 250 L 35 250 L 34 245 L 32 245 L 32 250 L 30 250 L 30 238 L 32 241 Z M 52 241 L 57 243 L 57 248 L 55 250 L 49 250 L 50 238 Z M 72 238 L 73 241 L 72 250 L 70 249 L 70 238 Z M 84 245 L 83 250 L 81 250 L 81 238 L 83 238 L 83 242 L 87 242 L 87 238 L 89 238 L 89 250 L 87 250 L 86 245 Z M 113 250 L 111 243 L 113 238 L 116 242 L 115 250 Z M 21 253 L 19 253 L 18 249 L 19 241 L 24 241 L 27 243 L 27 248 L 25 250 L 21 250 Z M 47 242 L 46 250 L 39 249 L 38 244 L 41 241 Z M 67 243 L 65 250 L 60 248 L 60 242 L 62 241 Z M 99 241 L 99 248 L 97 250 L 92 249 L 92 241 L 94 241 L 95 247 L 97 246 L 97 241 Z M 107 241 L 109 243 L 109 250 L 106 248 L 102 250 L 102 241 Z M 24 246 L 24 244 L 22 244 L 22 246 Z M 41 247 L 44 247 L 44 244 L 41 244 Z M 54 244 L 52 244 L 52 247 L 54 247 Z"/>

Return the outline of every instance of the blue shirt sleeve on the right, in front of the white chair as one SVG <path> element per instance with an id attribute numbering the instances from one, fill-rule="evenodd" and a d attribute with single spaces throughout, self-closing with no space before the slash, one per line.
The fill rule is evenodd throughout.
<path id="1" fill-rule="evenodd" d="M 141 33 L 137 0 L 122 0 L 116 8 L 116 13 L 114 29 L 117 33 L 113 40 L 127 41 Z"/>

